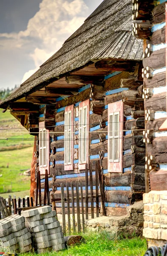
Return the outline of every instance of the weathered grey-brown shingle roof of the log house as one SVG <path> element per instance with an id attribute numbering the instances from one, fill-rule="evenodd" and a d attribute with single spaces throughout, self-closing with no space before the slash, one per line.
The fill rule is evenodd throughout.
<path id="1" fill-rule="evenodd" d="M 49 60 L 1 105 L 68 72 L 107 58 L 139 61 L 143 42 L 132 36 L 132 0 L 104 0 Z"/>

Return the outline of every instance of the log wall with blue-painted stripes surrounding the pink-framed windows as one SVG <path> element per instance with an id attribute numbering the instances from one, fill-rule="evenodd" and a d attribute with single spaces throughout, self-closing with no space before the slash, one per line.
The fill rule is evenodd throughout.
<path id="1" fill-rule="evenodd" d="M 141 76 L 141 75 L 140 75 Z M 101 167 L 104 174 L 105 206 L 107 215 L 124 215 L 126 207 L 141 200 L 144 192 L 144 159 L 145 144 L 143 143 L 144 105 L 141 93 L 141 79 L 138 79 L 138 65 L 133 79 L 127 72 L 116 72 L 107 76 L 98 85 L 85 86 L 81 93 L 69 96 L 57 102 L 54 110 L 46 111 L 46 106 L 40 108 L 39 122 L 47 119 L 46 126 L 54 126 L 50 130 L 50 170 L 49 189 L 55 187 L 55 198 L 60 198 L 60 183 L 66 187 L 66 182 L 82 181 L 85 186 L 85 170 L 78 170 L 78 106 L 79 102 L 90 99 L 89 131 L 90 131 L 90 163 L 92 164 L 93 189 L 95 190 L 95 164 L 101 152 Z M 124 79 L 125 78 L 125 79 Z M 122 84 L 122 87 L 120 88 Z M 126 84 L 126 87 L 125 87 Z M 127 91 L 127 87 L 129 90 Z M 128 92 L 128 93 L 127 93 Z M 124 150 L 122 173 L 108 172 L 108 104 L 124 101 Z M 64 111 L 65 107 L 74 104 L 74 169 L 64 171 Z M 129 105 L 128 105 L 129 104 Z M 54 113 L 54 125 L 53 125 Z M 135 115 L 134 115 L 135 113 Z M 49 121 L 50 120 L 50 121 Z M 49 124 L 49 125 L 48 125 Z M 91 132 L 95 131 L 95 132 Z M 97 132 L 96 132 L 97 131 Z M 39 153 L 37 152 L 37 155 Z M 38 169 L 39 167 L 37 167 Z M 55 181 L 52 181 L 52 175 Z M 42 193 L 44 176 L 41 175 Z M 88 179 L 90 189 L 90 180 Z M 83 188 L 83 194 L 84 194 Z M 89 191 L 90 193 L 90 191 Z M 99 192 L 100 194 L 100 192 Z M 101 198 L 99 198 L 101 201 Z M 90 198 L 89 198 L 90 201 Z M 119 210 L 115 210 L 119 208 Z"/>

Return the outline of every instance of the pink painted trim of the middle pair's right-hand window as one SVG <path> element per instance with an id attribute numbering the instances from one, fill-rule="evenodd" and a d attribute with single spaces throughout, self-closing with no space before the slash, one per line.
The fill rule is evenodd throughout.
<path id="1" fill-rule="evenodd" d="M 88 140 L 86 140 L 87 142 L 87 161 L 86 163 L 89 165 L 89 147 L 90 147 L 90 141 L 89 141 L 89 108 L 90 108 L 90 100 L 87 99 L 85 100 L 84 102 L 81 102 L 79 103 L 79 109 L 84 107 L 84 106 L 87 106 L 87 138 Z M 86 163 L 78 163 L 78 169 L 79 170 L 85 170 L 85 167 L 86 167 Z M 89 166 L 88 166 L 89 168 Z"/>

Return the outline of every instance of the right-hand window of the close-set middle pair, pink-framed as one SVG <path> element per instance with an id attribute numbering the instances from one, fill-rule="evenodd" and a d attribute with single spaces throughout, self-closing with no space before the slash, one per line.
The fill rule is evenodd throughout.
<path id="1" fill-rule="evenodd" d="M 85 169 L 89 160 L 89 100 L 79 104 L 79 165 Z"/>

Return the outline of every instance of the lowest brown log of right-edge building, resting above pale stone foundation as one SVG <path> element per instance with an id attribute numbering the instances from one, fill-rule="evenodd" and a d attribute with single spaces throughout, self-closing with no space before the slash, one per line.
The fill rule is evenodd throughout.
<path id="1" fill-rule="evenodd" d="M 161 191 L 167 190 L 167 171 L 151 171 L 150 172 L 150 188 L 151 190 Z"/>

